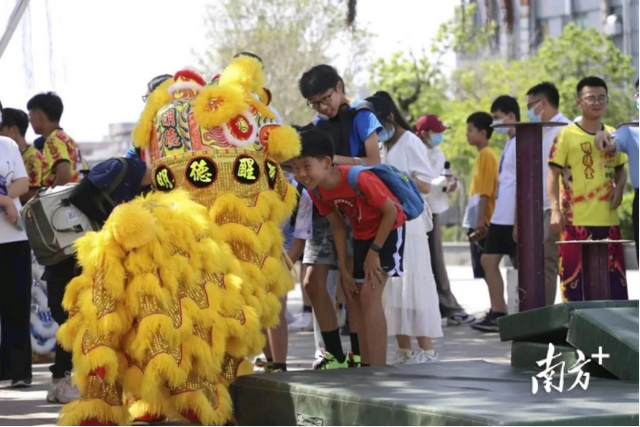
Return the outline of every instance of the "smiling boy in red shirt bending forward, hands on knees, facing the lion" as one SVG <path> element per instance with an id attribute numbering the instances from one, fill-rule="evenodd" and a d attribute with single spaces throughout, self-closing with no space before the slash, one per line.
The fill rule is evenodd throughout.
<path id="1" fill-rule="evenodd" d="M 350 167 L 333 165 L 334 148 L 327 133 L 309 129 L 301 132 L 300 138 L 302 154 L 293 161 L 296 180 L 309 190 L 318 211 L 331 224 L 342 287 L 354 300 L 353 314 L 363 325 L 358 332 L 362 366 L 383 366 L 387 360 L 387 321 L 382 292 L 388 277 L 403 274 L 406 216 L 398 199 L 373 172 L 358 175 L 362 196 L 356 194 L 347 182 Z M 343 216 L 355 238 L 353 277 L 347 268 Z"/>

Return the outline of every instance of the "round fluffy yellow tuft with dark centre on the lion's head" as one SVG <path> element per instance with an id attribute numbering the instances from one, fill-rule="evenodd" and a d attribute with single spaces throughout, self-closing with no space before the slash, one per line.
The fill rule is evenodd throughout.
<path id="1" fill-rule="evenodd" d="M 205 129 L 228 123 L 249 109 L 242 87 L 234 84 L 207 86 L 192 105 L 196 122 Z"/>

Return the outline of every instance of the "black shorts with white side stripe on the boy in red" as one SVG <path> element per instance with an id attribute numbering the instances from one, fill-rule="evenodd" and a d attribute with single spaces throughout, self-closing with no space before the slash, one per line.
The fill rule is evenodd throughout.
<path id="1" fill-rule="evenodd" d="M 380 251 L 380 267 L 389 277 L 404 275 L 404 225 L 392 230 Z M 364 260 L 374 239 L 353 241 L 353 278 L 356 283 L 364 282 Z"/>

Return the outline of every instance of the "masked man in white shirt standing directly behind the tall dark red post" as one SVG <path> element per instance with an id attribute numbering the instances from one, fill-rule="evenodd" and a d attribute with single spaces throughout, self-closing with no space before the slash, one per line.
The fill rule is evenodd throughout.
<path id="1" fill-rule="evenodd" d="M 527 115 L 530 122 L 559 122 L 571 123 L 558 111 L 560 106 L 560 94 L 553 83 L 543 82 L 533 86 L 527 92 Z M 545 127 L 542 129 L 542 199 L 544 209 L 544 285 L 545 304 L 553 305 L 556 300 L 558 288 L 558 245 L 560 235 L 552 230 L 551 204 L 547 193 L 547 175 L 549 173 L 549 153 L 553 141 L 562 126 Z"/>

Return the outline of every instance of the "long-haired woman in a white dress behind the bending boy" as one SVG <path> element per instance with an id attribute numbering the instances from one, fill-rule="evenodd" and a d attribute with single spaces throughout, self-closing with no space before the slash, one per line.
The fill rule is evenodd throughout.
<path id="1" fill-rule="evenodd" d="M 384 130 L 378 135 L 383 143 L 383 161 L 413 178 L 418 190 L 426 196 L 434 172 L 429 167 L 427 149 L 410 130 L 386 93 L 367 98 L 376 111 Z M 385 286 L 383 304 L 389 335 L 398 341 L 396 363 L 425 363 L 437 360 L 432 338 L 442 337 L 438 292 L 431 269 L 427 224 L 429 215 L 406 224 L 404 277 L 393 277 Z M 412 350 L 411 337 L 419 349 Z"/>

